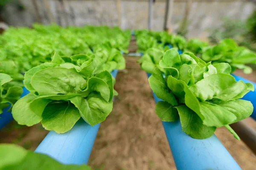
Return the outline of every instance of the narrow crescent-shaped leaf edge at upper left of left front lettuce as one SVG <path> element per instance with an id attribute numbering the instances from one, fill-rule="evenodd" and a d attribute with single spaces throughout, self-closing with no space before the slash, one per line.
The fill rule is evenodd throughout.
<path id="1" fill-rule="evenodd" d="M 55 67 L 55 66 L 56 66 L 55 63 L 46 62 L 44 64 L 38 65 L 38 66 L 36 66 L 34 68 L 31 68 L 29 71 L 27 71 L 25 73 L 25 76 L 24 76 L 24 85 L 25 85 L 26 89 L 28 91 L 35 91 L 35 89 L 31 85 L 31 79 L 34 76 L 34 74 L 37 73 L 40 70 L 45 69 L 45 68 Z"/>

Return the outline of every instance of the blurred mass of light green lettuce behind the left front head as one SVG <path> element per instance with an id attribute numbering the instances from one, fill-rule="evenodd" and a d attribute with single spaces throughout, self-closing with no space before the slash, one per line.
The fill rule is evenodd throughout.
<path id="1" fill-rule="evenodd" d="M 128 52 L 130 31 L 113 27 L 67 27 L 34 24 L 30 28 L 9 28 L 0 35 L 0 61 L 12 60 L 20 72 L 51 62 L 52 52 L 61 57 L 92 55 L 98 45 Z"/>

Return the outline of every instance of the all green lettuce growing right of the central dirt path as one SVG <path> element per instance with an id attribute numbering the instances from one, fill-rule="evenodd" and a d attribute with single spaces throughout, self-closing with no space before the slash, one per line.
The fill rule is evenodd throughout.
<path id="1" fill-rule="evenodd" d="M 150 87 L 162 99 L 155 108 L 157 116 L 166 122 L 180 121 L 182 131 L 195 139 L 209 138 L 223 126 L 239 139 L 230 124 L 252 114 L 252 103 L 240 98 L 254 87 L 236 82 L 231 73 L 236 68 L 251 72 L 244 64 L 255 63 L 256 54 L 231 39 L 208 46 L 166 32 L 138 31 L 136 35 L 139 48 L 145 45 L 138 62 L 151 74 Z M 172 48 L 165 48 L 167 44 Z M 186 52 L 179 54 L 177 49 Z"/>

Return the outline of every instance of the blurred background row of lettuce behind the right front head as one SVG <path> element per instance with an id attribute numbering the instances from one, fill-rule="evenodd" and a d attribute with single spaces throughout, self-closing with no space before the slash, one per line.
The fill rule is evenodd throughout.
<path id="1" fill-rule="evenodd" d="M 215 45 L 209 45 L 199 39 L 186 40 L 183 36 L 168 34 L 165 31 L 138 30 L 135 31 L 135 36 L 138 52 L 145 53 L 149 48 L 166 51 L 171 47 L 182 52 L 192 52 L 212 64 L 227 62 L 231 66 L 231 72 L 242 69 L 246 74 L 252 72 L 252 68 L 247 64 L 256 63 L 256 53 L 237 45 L 233 39 L 224 39 Z"/>

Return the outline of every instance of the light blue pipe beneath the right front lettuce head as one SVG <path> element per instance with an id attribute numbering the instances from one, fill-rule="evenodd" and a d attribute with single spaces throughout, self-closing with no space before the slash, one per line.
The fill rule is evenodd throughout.
<path id="1" fill-rule="evenodd" d="M 156 103 L 161 101 L 153 95 Z M 162 124 L 177 170 L 241 170 L 215 135 L 193 139 L 181 131 L 180 120 Z"/>

